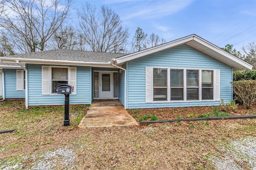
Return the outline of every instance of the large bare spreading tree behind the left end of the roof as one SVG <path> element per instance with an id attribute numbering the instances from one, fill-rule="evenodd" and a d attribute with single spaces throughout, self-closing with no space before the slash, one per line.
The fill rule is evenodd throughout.
<path id="1" fill-rule="evenodd" d="M 6 0 L 0 26 L 21 53 L 44 51 L 70 12 L 72 0 Z"/>

